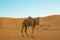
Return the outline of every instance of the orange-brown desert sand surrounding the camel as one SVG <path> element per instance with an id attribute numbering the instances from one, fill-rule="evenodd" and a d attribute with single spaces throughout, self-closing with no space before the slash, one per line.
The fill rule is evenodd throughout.
<path id="1" fill-rule="evenodd" d="M 0 17 L 0 40 L 60 40 L 60 15 L 40 17 L 40 26 L 36 26 L 34 38 L 22 37 L 21 25 L 24 19 Z M 28 28 L 29 35 L 31 30 Z"/>

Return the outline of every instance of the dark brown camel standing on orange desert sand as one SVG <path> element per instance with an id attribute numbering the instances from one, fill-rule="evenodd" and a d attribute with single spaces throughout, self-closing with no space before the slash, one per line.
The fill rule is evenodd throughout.
<path id="1" fill-rule="evenodd" d="M 27 37 L 29 37 L 29 35 L 27 33 L 27 28 L 32 27 L 31 37 L 33 37 L 33 33 L 34 33 L 34 29 L 35 29 L 36 25 L 39 25 L 39 17 L 37 17 L 37 18 L 32 18 L 32 17 L 26 18 L 22 23 L 22 29 L 21 29 L 22 36 L 24 37 L 23 30 L 25 28 L 25 33 L 26 33 Z"/>

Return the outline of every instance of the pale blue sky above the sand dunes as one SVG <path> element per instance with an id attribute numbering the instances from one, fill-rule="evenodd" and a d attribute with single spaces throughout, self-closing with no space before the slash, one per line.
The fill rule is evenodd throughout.
<path id="1" fill-rule="evenodd" d="M 60 0 L 0 0 L 0 17 L 43 17 L 60 14 Z"/>

